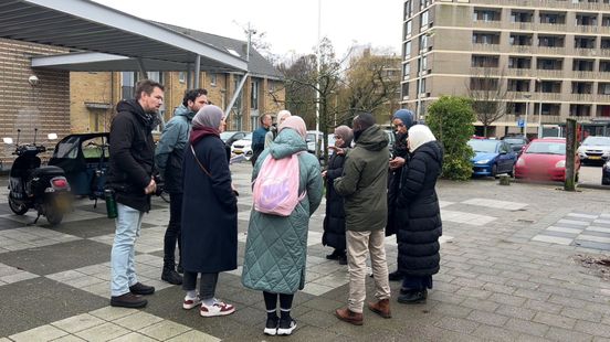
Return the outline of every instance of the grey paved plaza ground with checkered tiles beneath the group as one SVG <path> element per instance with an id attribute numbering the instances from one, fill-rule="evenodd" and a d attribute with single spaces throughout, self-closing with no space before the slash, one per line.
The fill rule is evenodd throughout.
<path id="1" fill-rule="evenodd" d="M 231 167 L 239 199 L 239 264 L 250 207 L 249 163 Z M 6 178 L 0 179 L 4 184 Z M 396 301 L 391 319 L 365 309 L 365 324 L 337 320 L 347 267 L 325 259 L 323 205 L 312 217 L 307 281 L 297 292 L 292 336 L 263 334 L 261 292 L 245 289 L 241 266 L 220 276 L 217 297 L 236 312 L 202 318 L 181 307 L 183 291 L 160 280 L 168 205 L 155 199 L 137 243 L 139 279 L 157 288 L 143 310 L 109 307 L 114 221 L 104 203 L 78 201 L 54 228 L 33 213 L 13 215 L 0 189 L 0 342 L 4 341 L 610 341 L 610 284 L 579 258 L 610 250 L 610 192 L 492 179 L 438 185 L 443 218 L 441 270 L 425 304 Z M 206 217 L 201 217 L 204 222 Z M 390 270 L 395 237 L 387 238 Z M 602 267 L 603 268 L 603 267 Z M 372 279 L 367 279 L 372 300 Z"/>

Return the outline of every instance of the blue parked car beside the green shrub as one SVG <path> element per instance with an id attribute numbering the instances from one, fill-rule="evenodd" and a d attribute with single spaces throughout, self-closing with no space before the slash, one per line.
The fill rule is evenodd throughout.
<path id="1" fill-rule="evenodd" d="M 473 175 L 496 177 L 499 173 L 513 175 L 517 154 L 506 141 L 471 139 L 467 143 L 475 153 L 471 159 Z"/>

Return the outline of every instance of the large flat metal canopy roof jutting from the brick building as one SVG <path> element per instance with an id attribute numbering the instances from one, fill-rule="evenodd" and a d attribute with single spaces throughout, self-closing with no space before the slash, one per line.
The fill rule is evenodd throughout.
<path id="1" fill-rule="evenodd" d="M 149 70 L 186 70 L 198 55 L 204 68 L 248 70 L 230 53 L 88 0 L 3 0 L 0 38 L 168 63 Z"/>

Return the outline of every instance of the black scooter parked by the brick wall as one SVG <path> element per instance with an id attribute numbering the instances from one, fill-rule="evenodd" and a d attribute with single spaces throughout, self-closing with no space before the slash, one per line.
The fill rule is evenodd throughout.
<path id="1" fill-rule="evenodd" d="M 17 215 L 25 214 L 30 209 L 46 216 L 51 225 L 57 225 L 72 207 L 70 184 L 63 169 L 57 167 L 41 167 L 39 153 L 46 151 L 42 145 L 36 145 L 38 128 L 34 129 L 32 145 L 19 145 L 21 129 L 17 130 L 14 160 L 9 178 L 9 206 Z M 56 135 L 49 135 L 49 139 Z M 11 138 L 4 138 L 4 143 L 12 143 Z"/>

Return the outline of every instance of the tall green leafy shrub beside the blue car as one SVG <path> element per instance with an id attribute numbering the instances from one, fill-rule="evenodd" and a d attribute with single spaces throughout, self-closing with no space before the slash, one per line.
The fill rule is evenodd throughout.
<path id="1" fill-rule="evenodd" d="M 466 97 L 442 96 L 430 106 L 425 122 L 444 148 L 443 178 L 471 178 L 474 152 L 467 141 L 474 133 L 475 120 L 472 100 Z"/>

